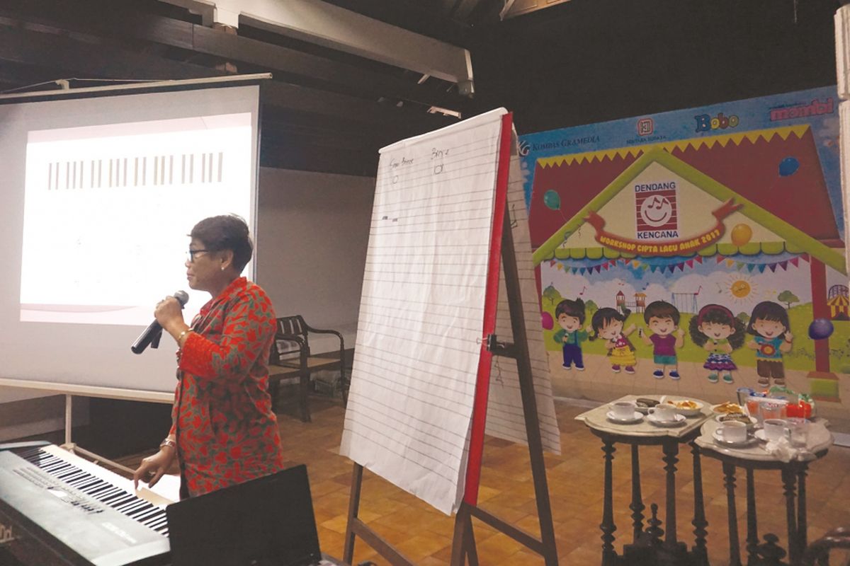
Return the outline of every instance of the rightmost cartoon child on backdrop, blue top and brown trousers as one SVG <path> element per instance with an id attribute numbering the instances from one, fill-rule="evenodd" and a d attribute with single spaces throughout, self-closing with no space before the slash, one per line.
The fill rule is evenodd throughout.
<path id="1" fill-rule="evenodd" d="M 794 339 L 788 312 L 778 303 L 762 301 L 752 310 L 746 331 L 756 336 L 747 343 L 747 347 L 756 350 L 758 384 L 768 387 L 770 378 L 774 378 L 774 385 L 785 385 L 782 354 L 791 351 L 791 341 Z"/>

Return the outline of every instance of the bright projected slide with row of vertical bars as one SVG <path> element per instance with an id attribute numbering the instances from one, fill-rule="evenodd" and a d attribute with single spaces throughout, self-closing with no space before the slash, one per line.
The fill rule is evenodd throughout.
<path id="1" fill-rule="evenodd" d="M 150 322 L 196 221 L 252 222 L 253 141 L 251 113 L 29 132 L 20 320 Z"/>

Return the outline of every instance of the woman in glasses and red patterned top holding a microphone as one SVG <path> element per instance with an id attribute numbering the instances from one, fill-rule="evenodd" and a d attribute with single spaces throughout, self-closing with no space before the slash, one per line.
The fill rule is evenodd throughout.
<path id="1" fill-rule="evenodd" d="M 177 341 L 178 384 L 172 427 L 160 451 L 142 460 L 133 482 L 155 485 L 177 458 L 180 496 L 199 496 L 283 468 L 268 392 L 275 311 L 258 285 L 240 277 L 252 244 L 238 216 L 212 216 L 190 233 L 186 276 L 212 300 L 189 326 L 178 300 L 154 316 Z"/>

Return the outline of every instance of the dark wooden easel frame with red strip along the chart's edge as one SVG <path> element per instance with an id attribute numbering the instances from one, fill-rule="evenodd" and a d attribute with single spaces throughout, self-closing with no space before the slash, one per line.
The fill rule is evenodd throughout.
<path id="1" fill-rule="evenodd" d="M 555 566 L 558 563 L 552 511 L 549 504 L 546 469 L 543 462 L 540 420 L 537 411 L 528 340 L 525 332 L 517 257 L 514 250 L 512 225 L 509 215 L 506 213 L 508 171 L 513 146 L 512 132 L 512 116 L 505 114 L 501 117 L 501 135 L 497 154 L 496 193 L 493 207 L 492 233 L 490 235 L 490 253 L 487 262 L 486 296 L 484 300 L 484 333 L 481 337 L 482 344 L 478 363 L 478 378 L 475 383 L 473 417 L 469 435 L 463 498 L 460 506 L 457 508 L 455 518 L 451 558 L 453 566 L 461 566 L 467 561 L 470 566 L 477 566 L 478 564 L 473 535 L 473 517 L 519 541 L 531 551 L 537 552 L 544 558 L 547 566 Z M 507 290 L 507 306 L 511 329 L 513 331 L 513 344 L 501 342 L 495 333 L 500 261 L 504 271 L 505 287 Z M 510 358 L 517 363 L 524 427 L 530 451 L 532 479 L 535 486 L 536 505 L 541 525 L 541 537 L 539 539 L 478 506 L 479 477 L 484 448 L 484 429 L 488 407 L 492 356 Z M 385 541 L 377 532 L 371 530 L 358 517 L 362 481 L 363 466 L 355 462 L 343 559 L 351 563 L 354 558 L 355 537 L 360 536 L 363 541 L 374 548 L 394 566 L 411 566 L 413 563 L 409 558 L 402 555 L 394 546 Z"/>

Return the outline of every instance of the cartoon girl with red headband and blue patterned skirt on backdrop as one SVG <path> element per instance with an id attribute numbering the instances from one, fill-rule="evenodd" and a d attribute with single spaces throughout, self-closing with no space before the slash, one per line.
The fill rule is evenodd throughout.
<path id="1" fill-rule="evenodd" d="M 691 319 L 690 335 L 695 345 L 709 352 L 702 366 L 709 371 L 708 380 L 716 384 L 717 374 L 723 373 L 723 383 L 731 384 L 732 372 L 738 369 L 732 351 L 744 345 L 744 322 L 723 305 L 706 305 Z"/>

